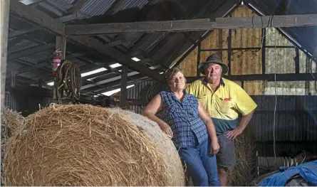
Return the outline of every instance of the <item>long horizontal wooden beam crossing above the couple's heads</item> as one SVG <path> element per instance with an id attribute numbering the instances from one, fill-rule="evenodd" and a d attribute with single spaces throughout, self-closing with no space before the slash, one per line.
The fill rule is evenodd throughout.
<path id="1" fill-rule="evenodd" d="M 317 14 L 199 18 L 177 21 L 142 21 L 132 23 L 98 23 L 66 26 L 67 35 L 95 35 L 105 33 L 155 33 L 207 31 L 212 29 L 271 28 L 293 26 L 317 26 Z"/>

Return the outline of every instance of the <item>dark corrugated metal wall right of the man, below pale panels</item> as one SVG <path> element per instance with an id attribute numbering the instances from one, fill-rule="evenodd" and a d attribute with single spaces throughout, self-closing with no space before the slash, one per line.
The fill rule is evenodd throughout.
<path id="1" fill-rule="evenodd" d="M 317 153 L 317 96 L 252 96 L 258 107 L 249 125 L 254 130 L 259 156 L 276 156 L 284 151 L 296 153 L 302 149 Z"/>

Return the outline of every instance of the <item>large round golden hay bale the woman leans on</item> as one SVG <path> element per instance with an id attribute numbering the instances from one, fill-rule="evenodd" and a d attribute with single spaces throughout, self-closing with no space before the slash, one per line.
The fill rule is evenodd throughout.
<path id="1" fill-rule="evenodd" d="M 26 117 L 4 164 L 6 186 L 185 184 L 177 150 L 155 122 L 92 105 L 51 105 Z"/>

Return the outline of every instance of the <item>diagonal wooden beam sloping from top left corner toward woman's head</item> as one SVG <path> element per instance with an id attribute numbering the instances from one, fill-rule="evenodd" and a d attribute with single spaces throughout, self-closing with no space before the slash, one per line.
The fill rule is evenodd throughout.
<path id="1" fill-rule="evenodd" d="M 85 46 L 92 50 L 97 51 L 103 55 L 110 56 L 118 61 L 122 65 L 127 65 L 130 69 L 147 75 L 149 78 L 153 78 L 159 82 L 164 82 L 165 79 L 157 71 L 147 68 L 147 66 L 140 63 L 136 63 L 131 60 L 128 55 L 121 53 L 110 46 L 104 45 L 102 42 L 88 36 L 67 36 L 66 25 L 58 20 L 54 20 L 47 14 L 39 11 L 35 7 L 26 6 L 19 1 L 11 1 L 10 14 L 20 16 L 21 18 L 36 23 L 41 28 L 48 32 L 54 33 L 58 36 L 66 36 L 68 41 L 72 43 Z"/>

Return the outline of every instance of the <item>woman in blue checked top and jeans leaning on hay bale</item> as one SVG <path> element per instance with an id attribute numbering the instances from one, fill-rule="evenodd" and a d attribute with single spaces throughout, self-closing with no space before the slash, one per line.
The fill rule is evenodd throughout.
<path id="1" fill-rule="evenodd" d="M 180 69 L 167 72 L 167 82 L 170 90 L 155 95 L 142 114 L 172 137 L 194 186 L 220 186 L 214 156 L 219 144 L 211 117 L 194 95 L 184 91 L 186 80 Z M 161 119 L 155 116 L 160 110 Z"/>

